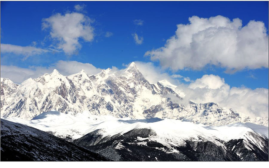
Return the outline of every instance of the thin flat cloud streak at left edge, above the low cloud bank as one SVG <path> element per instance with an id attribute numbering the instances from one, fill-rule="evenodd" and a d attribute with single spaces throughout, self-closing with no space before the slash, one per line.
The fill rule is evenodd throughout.
<path id="1" fill-rule="evenodd" d="M 1 44 L 1 53 L 13 53 L 16 55 L 22 55 L 25 56 L 25 59 L 29 56 L 40 55 L 47 52 L 49 52 L 49 50 L 44 50 L 32 46 L 23 47 L 13 44 Z"/>

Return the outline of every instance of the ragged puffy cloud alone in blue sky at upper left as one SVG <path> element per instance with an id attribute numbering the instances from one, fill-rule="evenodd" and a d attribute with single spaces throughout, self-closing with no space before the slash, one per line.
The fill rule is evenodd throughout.
<path id="1" fill-rule="evenodd" d="M 91 19 L 82 13 L 56 13 L 49 18 L 42 19 L 42 30 L 49 28 L 50 36 L 58 42 L 58 49 L 71 55 L 81 48 L 79 39 L 92 41 L 94 28 Z"/>

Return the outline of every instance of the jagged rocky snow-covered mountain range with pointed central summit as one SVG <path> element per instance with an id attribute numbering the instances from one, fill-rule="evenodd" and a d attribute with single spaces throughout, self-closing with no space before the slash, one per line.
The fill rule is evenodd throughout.
<path id="1" fill-rule="evenodd" d="M 175 88 L 168 81 L 150 84 L 135 63 L 124 70 L 108 68 L 96 75 L 88 75 L 82 70 L 63 76 L 54 70 L 19 85 L 1 78 L 1 117 L 30 120 L 55 109 L 74 116 L 90 111 L 93 115 L 118 118 L 158 117 L 214 126 L 252 122 L 268 126 L 268 117 L 250 118 L 215 103 L 182 105 L 181 95 L 184 93 Z"/>

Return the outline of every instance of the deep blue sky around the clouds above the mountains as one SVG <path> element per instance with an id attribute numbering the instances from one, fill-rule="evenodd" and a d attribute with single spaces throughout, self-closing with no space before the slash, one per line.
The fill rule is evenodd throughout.
<path id="1" fill-rule="evenodd" d="M 75 10 L 75 5 L 83 9 Z M 152 60 L 144 56 L 147 51 L 165 46 L 166 40 L 175 35 L 177 24 L 189 24 L 189 17 L 210 18 L 224 16 L 230 20 L 239 18 L 242 27 L 249 21 L 262 21 L 268 37 L 268 2 L 7 2 L 1 1 L 1 50 L 2 44 L 32 46 L 48 50 L 57 46 L 57 40 L 50 37 L 51 28 L 42 30 L 44 18 L 57 13 L 81 13 L 91 19 L 94 28 L 92 40 L 78 39 L 79 49 L 75 53 L 45 52 L 26 56 L 22 53 L 1 51 L 1 65 L 21 68 L 48 67 L 59 60 L 90 63 L 97 68 L 106 69 L 132 61 L 152 62 L 155 67 L 163 67 L 162 73 L 180 74 L 191 80 L 204 74 L 218 75 L 231 87 L 267 88 L 268 66 L 256 66 L 227 73 L 227 67 L 218 65 L 204 66 L 198 70 L 177 69 L 161 66 L 161 59 Z M 143 21 L 142 25 L 135 20 Z M 138 21 L 139 22 L 139 21 Z M 106 37 L 110 32 L 111 36 Z M 143 37 L 142 44 L 136 44 L 134 35 Z M 168 58 L 167 58 L 168 59 Z M 268 60 L 268 59 L 267 59 Z M 267 61 L 265 59 L 265 61 Z M 171 60 L 175 61 L 175 60 Z M 161 64 L 160 64 L 161 63 Z M 257 63 L 260 65 L 260 62 Z M 268 63 L 267 63 L 268 64 Z M 1 68 L 1 76 L 4 74 Z M 180 82 L 188 83 L 183 78 Z"/>

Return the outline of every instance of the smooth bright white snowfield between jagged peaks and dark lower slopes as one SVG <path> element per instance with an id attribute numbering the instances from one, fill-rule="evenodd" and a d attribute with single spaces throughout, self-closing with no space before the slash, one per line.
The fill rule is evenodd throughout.
<path id="1" fill-rule="evenodd" d="M 58 111 L 44 112 L 32 120 L 21 118 L 4 118 L 6 120 L 24 124 L 42 131 L 52 132 L 54 135 L 77 139 L 95 130 L 102 130 L 103 136 L 113 136 L 126 133 L 133 129 L 150 128 L 157 135 L 155 138 L 170 139 L 174 143 L 182 144 L 186 139 L 204 138 L 210 141 L 220 139 L 244 139 L 248 132 L 268 138 L 268 127 L 252 123 L 236 123 L 225 126 L 205 126 L 187 121 L 174 119 L 150 118 L 132 120 L 130 118 L 115 118 L 113 116 L 92 115 L 85 111 L 77 116 Z"/>

